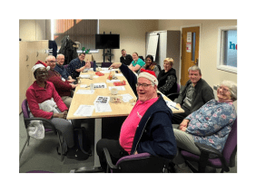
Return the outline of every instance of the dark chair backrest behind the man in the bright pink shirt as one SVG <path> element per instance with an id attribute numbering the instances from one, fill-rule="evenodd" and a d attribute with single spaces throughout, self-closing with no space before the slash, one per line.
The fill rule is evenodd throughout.
<path id="1" fill-rule="evenodd" d="M 149 153 L 140 153 L 120 158 L 116 166 L 123 173 L 161 173 L 168 166 L 169 159 L 154 157 Z"/>

